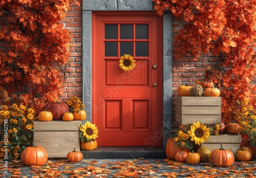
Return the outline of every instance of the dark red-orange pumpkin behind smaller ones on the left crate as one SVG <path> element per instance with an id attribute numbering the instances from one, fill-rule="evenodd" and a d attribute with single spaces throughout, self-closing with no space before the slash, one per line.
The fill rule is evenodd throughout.
<path id="1" fill-rule="evenodd" d="M 52 113 L 54 120 L 61 120 L 63 114 L 69 112 L 69 105 L 65 102 L 48 103 L 45 109 Z"/>

